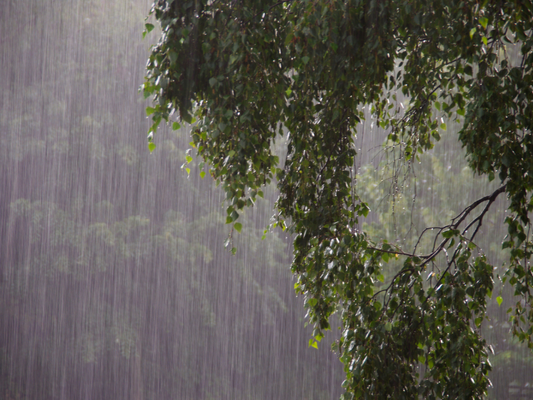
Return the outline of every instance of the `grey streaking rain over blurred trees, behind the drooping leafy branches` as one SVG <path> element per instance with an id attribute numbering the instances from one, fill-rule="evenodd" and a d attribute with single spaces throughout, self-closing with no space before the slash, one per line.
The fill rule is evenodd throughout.
<path id="1" fill-rule="evenodd" d="M 201 160 L 184 166 L 188 127 L 161 127 L 148 151 L 139 87 L 157 40 L 157 30 L 142 39 L 150 5 L 2 2 L 0 398 L 338 399 L 338 332 L 309 345 L 291 237 L 261 239 L 275 187 L 232 232 Z M 435 223 L 430 210 L 452 201 L 458 180 L 470 190 L 464 204 L 489 193 L 456 163 L 461 148 L 449 136 L 408 178 L 389 179 L 394 149 L 369 133 L 371 120 L 357 141 L 372 150 L 356 165 L 373 210 L 365 229 L 407 240 L 403 227 Z M 499 260 L 500 243 L 483 246 Z M 511 339 L 504 306 L 494 301 L 486 328 L 491 396 L 532 398 L 522 387 L 533 384 L 533 357 Z"/>

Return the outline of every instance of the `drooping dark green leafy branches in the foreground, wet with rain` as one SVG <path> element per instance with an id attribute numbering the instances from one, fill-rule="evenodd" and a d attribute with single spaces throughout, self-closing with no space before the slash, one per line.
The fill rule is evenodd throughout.
<path id="1" fill-rule="evenodd" d="M 533 3 L 158 0 L 151 15 L 161 35 L 142 87 L 150 150 L 162 120 L 193 123 L 191 146 L 237 231 L 277 181 L 273 225 L 294 234 L 311 344 L 340 317 L 344 398 L 483 397 L 495 266 L 476 235 L 499 196 L 503 280 L 518 296 L 510 323 L 533 346 Z M 472 170 L 501 184 L 410 247 L 374 238 L 361 229 L 369 206 L 354 168 L 365 118 L 386 132 L 396 177 L 458 124 Z"/>

